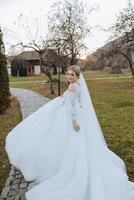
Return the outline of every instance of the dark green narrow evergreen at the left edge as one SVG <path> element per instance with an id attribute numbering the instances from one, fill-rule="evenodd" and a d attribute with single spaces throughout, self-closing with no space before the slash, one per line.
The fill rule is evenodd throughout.
<path id="1" fill-rule="evenodd" d="M 0 114 L 3 114 L 10 105 L 9 79 L 6 64 L 3 34 L 0 28 Z"/>

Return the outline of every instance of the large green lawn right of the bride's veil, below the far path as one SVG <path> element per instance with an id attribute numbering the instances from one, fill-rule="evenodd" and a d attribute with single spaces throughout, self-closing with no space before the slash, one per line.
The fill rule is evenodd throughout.
<path id="1" fill-rule="evenodd" d="M 134 81 L 88 81 L 88 86 L 107 145 L 134 181 Z"/>

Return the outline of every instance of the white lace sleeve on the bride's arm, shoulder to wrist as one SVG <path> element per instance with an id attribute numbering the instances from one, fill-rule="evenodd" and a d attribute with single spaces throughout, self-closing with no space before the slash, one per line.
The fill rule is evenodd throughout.
<path id="1" fill-rule="evenodd" d="M 71 106 L 71 119 L 77 121 L 77 101 L 80 100 L 79 90 L 75 84 L 71 83 L 68 87 L 69 90 L 69 101 Z M 80 101 L 79 101 L 80 102 Z"/>

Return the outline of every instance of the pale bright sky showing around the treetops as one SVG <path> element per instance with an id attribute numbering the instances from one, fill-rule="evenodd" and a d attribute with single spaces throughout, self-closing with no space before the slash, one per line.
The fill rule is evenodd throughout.
<path id="1" fill-rule="evenodd" d="M 18 26 L 19 15 L 22 13 L 29 22 L 32 21 L 33 16 L 39 16 L 41 19 L 41 16 L 45 16 L 49 12 L 53 2 L 56 0 L 0 0 L 0 25 L 5 32 L 6 53 L 9 52 L 10 45 L 16 43 L 16 38 L 17 40 L 18 38 L 23 38 L 23 40 L 27 38 L 26 33 L 24 34 L 22 28 Z M 87 7 L 98 8 L 89 16 L 89 24 L 93 29 L 91 35 L 85 40 L 87 50 L 82 53 L 82 56 L 103 46 L 110 36 L 108 32 L 95 27 L 107 28 L 112 25 L 116 20 L 116 15 L 127 5 L 127 0 L 83 0 L 83 2 Z M 47 22 L 43 21 L 44 19 L 45 17 L 42 17 L 41 20 L 42 31 L 45 32 Z M 31 26 L 35 31 L 34 26 Z"/>

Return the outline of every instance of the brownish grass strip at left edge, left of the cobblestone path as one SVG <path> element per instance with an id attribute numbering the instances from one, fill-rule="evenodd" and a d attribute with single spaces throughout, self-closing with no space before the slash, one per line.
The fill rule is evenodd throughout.
<path id="1" fill-rule="evenodd" d="M 5 152 L 5 138 L 7 133 L 21 121 L 19 104 L 14 96 L 11 96 L 11 107 L 4 115 L 0 115 L 0 191 L 10 170 L 10 164 Z"/>

